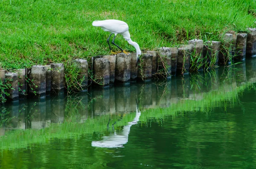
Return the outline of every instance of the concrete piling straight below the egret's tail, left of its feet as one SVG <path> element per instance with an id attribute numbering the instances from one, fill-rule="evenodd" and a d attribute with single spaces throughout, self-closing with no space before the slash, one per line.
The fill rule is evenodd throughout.
<path id="1" fill-rule="evenodd" d="M 105 58 L 97 58 L 93 65 L 93 84 L 102 87 L 109 86 L 110 62 Z"/>

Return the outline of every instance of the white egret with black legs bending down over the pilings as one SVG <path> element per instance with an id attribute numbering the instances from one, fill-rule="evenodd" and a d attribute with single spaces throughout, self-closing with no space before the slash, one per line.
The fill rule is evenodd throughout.
<path id="1" fill-rule="evenodd" d="M 111 46 L 109 44 L 109 39 L 112 34 L 115 34 L 113 41 L 112 41 L 113 45 L 115 45 L 122 52 L 127 54 L 127 52 L 125 52 L 124 50 L 122 50 L 122 48 L 120 48 L 118 45 L 115 44 L 116 35 L 121 34 L 130 45 L 133 45 L 136 48 L 137 64 L 138 64 L 139 56 L 141 55 L 140 46 L 136 42 L 133 42 L 131 40 L 131 35 L 129 33 L 129 27 L 128 27 L 127 23 L 125 23 L 121 20 L 95 20 L 95 21 L 93 21 L 93 26 L 99 26 L 104 31 L 111 32 L 110 36 L 107 39 L 107 42 L 108 42 L 109 49 L 110 49 L 111 53 L 113 53 L 113 54 L 116 54 L 116 53 L 114 53 L 111 50 Z"/>

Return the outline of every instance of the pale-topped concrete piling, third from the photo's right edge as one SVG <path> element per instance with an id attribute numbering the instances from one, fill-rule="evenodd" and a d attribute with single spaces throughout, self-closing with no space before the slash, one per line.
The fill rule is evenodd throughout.
<path id="1" fill-rule="evenodd" d="M 224 34 L 222 37 L 223 48 L 219 54 L 220 65 L 230 65 L 234 61 L 236 48 L 236 35 Z"/>

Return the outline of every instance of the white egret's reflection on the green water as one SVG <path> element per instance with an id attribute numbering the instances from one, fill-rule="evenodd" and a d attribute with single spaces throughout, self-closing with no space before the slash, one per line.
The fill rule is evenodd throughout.
<path id="1" fill-rule="evenodd" d="M 113 135 L 104 136 L 102 141 L 92 141 L 92 146 L 95 147 L 106 147 L 106 148 L 116 148 L 124 147 L 123 145 L 128 142 L 128 135 L 130 133 L 130 128 L 132 125 L 137 124 L 140 118 L 140 110 L 138 107 L 136 109 L 136 116 L 133 121 L 128 122 L 128 125 L 123 127 L 122 132 L 116 134 L 114 131 Z"/>

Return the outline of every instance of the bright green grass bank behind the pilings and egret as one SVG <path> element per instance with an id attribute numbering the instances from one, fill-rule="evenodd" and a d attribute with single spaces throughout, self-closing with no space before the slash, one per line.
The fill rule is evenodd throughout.
<path id="1" fill-rule="evenodd" d="M 93 20 L 123 20 L 142 50 L 155 50 L 246 31 L 255 26 L 255 9 L 255 0 L 3 0 L 0 68 L 62 62 L 71 90 L 78 86 L 74 59 L 109 54 L 109 33 Z M 121 35 L 116 44 L 135 51 Z"/>

